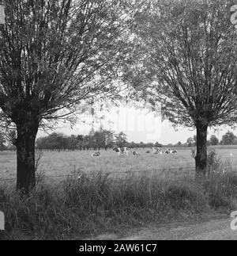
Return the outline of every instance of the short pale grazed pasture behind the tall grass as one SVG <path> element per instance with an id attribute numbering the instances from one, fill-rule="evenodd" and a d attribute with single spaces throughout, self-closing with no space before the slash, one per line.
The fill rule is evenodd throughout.
<path id="1" fill-rule="evenodd" d="M 237 147 L 215 147 L 223 160 L 237 166 Z M 117 155 L 115 151 L 101 151 L 99 158 L 92 158 L 92 151 L 43 152 L 39 170 L 45 176 L 69 175 L 73 170 L 106 172 L 153 172 L 160 174 L 190 174 L 194 171 L 194 158 L 190 149 L 179 149 L 177 155 L 146 154 L 148 149 L 138 149 L 140 155 Z M 150 150 L 151 151 L 151 150 Z M 152 152 L 152 151 L 151 151 Z M 16 153 L 0 152 L 0 180 L 16 177 Z"/>

